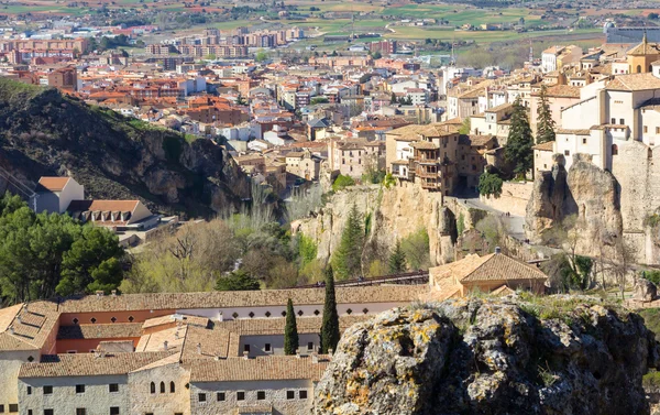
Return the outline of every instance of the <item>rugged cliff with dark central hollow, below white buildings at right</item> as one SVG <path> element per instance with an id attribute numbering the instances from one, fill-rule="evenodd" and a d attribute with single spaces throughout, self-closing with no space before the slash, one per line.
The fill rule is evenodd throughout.
<path id="1" fill-rule="evenodd" d="M 534 241 L 569 216 L 576 216 L 580 228 L 578 251 L 598 255 L 600 243 L 613 243 L 623 232 L 618 184 L 612 173 L 575 154 L 566 172 L 563 156 L 556 156 L 551 172 L 539 175 L 527 205 L 526 232 Z"/>

